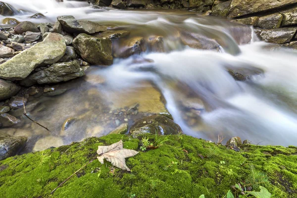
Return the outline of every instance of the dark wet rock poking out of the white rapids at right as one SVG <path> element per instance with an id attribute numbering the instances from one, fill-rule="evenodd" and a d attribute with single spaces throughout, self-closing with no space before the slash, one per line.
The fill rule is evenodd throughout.
<path id="1" fill-rule="evenodd" d="M 263 74 L 262 69 L 256 67 L 227 67 L 229 74 L 237 81 L 246 81 L 254 75 Z"/>

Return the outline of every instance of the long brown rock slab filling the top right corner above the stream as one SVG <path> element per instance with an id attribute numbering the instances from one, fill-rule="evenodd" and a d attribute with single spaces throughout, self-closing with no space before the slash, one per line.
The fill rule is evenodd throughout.
<path id="1" fill-rule="evenodd" d="M 232 0 L 228 17 L 234 18 L 255 12 L 266 11 L 296 2 L 297 0 Z"/>

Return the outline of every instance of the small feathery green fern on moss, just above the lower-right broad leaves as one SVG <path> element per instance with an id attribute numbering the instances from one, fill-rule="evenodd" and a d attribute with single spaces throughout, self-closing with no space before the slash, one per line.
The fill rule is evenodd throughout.
<path id="1" fill-rule="evenodd" d="M 260 186 L 267 186 L 269 181 L 266 173 L 255 170 L 253 164 L 250 164 L 249 167 L 251 173 L 246 178 L 245 186 L 251 186 L 254 191 L 259 190 Z"/>

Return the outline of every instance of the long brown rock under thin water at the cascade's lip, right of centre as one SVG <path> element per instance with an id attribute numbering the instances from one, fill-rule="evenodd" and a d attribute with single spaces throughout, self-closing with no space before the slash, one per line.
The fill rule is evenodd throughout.
<path id="1" fill-rule="evenodd" d="M 196 33 L 182 32 L 181 40 L 184 45 L 194 49 L 220 49 L 220 45 L 214 39 Z"/>

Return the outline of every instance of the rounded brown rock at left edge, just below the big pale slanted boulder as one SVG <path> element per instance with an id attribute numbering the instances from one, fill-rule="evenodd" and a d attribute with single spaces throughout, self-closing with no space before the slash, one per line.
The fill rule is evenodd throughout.
<path id="1" fill-rule="evenodd" d="M 10 99 L 20 91 L 20 87 L 9 82 L 0 79 L 0 100 Z"/>

